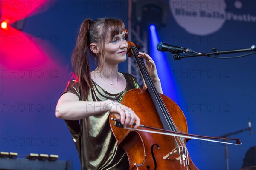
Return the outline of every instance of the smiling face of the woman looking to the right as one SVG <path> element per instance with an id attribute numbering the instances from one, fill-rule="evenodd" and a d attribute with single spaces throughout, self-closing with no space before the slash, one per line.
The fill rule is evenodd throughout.
<path id="1" fill-rule="evenodd" d="M 110 40 L 110 34 L 106 37 L 105 42 L 105 62 L 120 63 L 126 60 L 126 50 L 128 44 L 125 40 L 125 33 L 118 34 Z"/>

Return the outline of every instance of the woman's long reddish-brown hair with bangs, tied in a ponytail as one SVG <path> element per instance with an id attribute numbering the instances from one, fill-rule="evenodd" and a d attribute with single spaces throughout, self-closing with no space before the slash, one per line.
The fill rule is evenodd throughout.
<path id="1" fill-rule="evenodd" d="M 114 36 L 124 31 L 124 23 L 122 20 L 114 18 L 99 18 L 96 20 L 86 19 L 80 26 L 76 46 L 72 54 L 71 63 L 73 75 L 76 78 L 78 88 L 81 93 L 81 99 L 88 99 L 88 93 L 92 87 L 92 79 L 90 74 L 89 51 L 95 57 L 96 62 L 103 66 L 104 62 L 104 46 L 107 40 L 106 35 L 110 35 L 110 41 Z M 90 50 L 90 44 L 99 45 L 99 54 L 94 54 Z"/>

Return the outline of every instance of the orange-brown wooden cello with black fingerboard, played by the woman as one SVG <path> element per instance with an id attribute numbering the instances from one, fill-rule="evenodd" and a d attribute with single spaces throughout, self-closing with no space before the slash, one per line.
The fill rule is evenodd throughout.
<path id="1" fill-rule="evenodd" d="M 125 30 L 126 38 L 128 31 Z M 143 58 L 138 57 L 136 45 L 128 42 L 127 53 L 134 55 L 145 86 L 143 89 L 132 89 L 125 93 L 121 103 L 131 108 L 147 127 L 166 130 L 170 133 L 187 134 L 186 118 L 180 107 L 169 97 L 157 92 Z M 131 170 L 198 170 L 186 148 L 187 137 L 147 133 L 147 127 L 138 130 L 119 128 L 121 125 L 112 120 L 109 122 L 118 147 L 122 147 L 129 160 Z M 237 141 L 237 144 L 240 142 Z"/>

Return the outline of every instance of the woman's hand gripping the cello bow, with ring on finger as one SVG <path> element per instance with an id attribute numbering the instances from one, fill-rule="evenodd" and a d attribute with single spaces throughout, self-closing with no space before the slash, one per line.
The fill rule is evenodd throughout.
<path id="1" fill-rule="evenodd" d="M 134 111 L 118 102 L 112 102 L 110 105 L 110 111 L 119 119 L 123 127 L 130 127 L 134 123 L 134 128 L 136 129 L 140 125 L 140 118 L 134 113 Z"/>

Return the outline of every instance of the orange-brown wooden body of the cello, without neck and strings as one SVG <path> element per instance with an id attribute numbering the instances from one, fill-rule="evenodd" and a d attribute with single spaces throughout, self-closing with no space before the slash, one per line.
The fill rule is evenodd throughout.
<path id="1" fill-rule="evenodd" d="M 160 94 L 177 131 L 187 133 L 186 118 L 180 107 L 169 97 Z M 132 89 L 122 99 L 122 104 L 133 109 L 143 125 L 163 129 L 162 122 L 147 89 Z M 114 115 L 111 113 L 111 117 Z M 185 146 L 185 138 L 127 130 L 116 127 L 110 120 L 111 129 L 129 159 L 131 170 L 197 170 Z M 138 129 L 143 129 L 139 127 Z M 184 151 L 186 150 L 186 154 Z M 172 153 L 168 156 L 169 153 Z M 182 153 L 181 153 L 182 152 Z M 167 158 L 163 158 L 167 155 Z M 185 159 L 185 160 L 184 160 Z"/>

